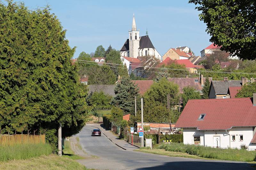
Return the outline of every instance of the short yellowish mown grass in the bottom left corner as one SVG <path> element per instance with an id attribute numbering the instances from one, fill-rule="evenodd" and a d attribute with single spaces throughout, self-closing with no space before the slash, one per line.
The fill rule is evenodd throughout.
<path id="1" fill-rule="evenodd" d="M 77 170 L 87 170 L 87 168 L 78 162 L 60 157 L 57 155 L 41 156 L 37 158 L 31 158 L 26 160 L 11 160 L 0 164 L 0 169 L 12 170 L 39 170 L 39 169 L 54 169 L 54 170 L 64 170 L 64 169 L 77 169 Z"/>

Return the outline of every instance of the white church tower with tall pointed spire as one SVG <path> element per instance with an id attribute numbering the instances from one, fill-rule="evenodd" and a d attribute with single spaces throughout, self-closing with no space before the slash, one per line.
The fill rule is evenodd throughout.
<path id="1" fill-rule="evenodd" d="M 140 30 L 137 31 L 133 14 L 132 31 L 129 31 L 129 57 L 138 58 L 140 47 Z"/>

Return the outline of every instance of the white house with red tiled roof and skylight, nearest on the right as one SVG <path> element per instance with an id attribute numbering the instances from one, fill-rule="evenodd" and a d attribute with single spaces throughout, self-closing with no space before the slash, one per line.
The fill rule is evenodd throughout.
<path id="1" fill-rule="evenodd" d="M 253 98 L 189 100 L 175 128 L 183 143 L 219 148 L 256 149 L 256 94 Z"/>

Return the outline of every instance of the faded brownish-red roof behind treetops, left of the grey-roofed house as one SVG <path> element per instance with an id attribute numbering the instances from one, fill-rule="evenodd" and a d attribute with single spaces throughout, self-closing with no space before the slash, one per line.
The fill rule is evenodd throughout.
<path id="1" fill-rule="evenodd" d="M 197 81 L 195 81 L 197 80 Z M 197 91 L 201 91 L 203 87 L 201 86 L 201 83 L 199 82 L 199 77 L 194 78 L 168 78 L 168 81 L 172 81 L 179 85 L 179 91 L 182 93 L 182 89 L 184 87 L 193 87 Z"/>

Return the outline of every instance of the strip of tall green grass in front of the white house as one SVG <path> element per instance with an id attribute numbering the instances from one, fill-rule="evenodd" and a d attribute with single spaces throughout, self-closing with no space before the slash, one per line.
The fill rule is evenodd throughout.
<path id="1" fill-rule="evenodd" d="M 181 152 L 189 155 L 196 155 L 202 158 L 234 160 L 252 162 L 255 161 L 256 152 L 245 149 L 219 149 L 212 147 L 185 145 L 183 143 L 170 143 L 158 146 L 158 149 L 164 149 L 170 152 Z"/>

